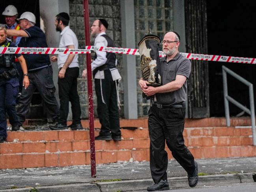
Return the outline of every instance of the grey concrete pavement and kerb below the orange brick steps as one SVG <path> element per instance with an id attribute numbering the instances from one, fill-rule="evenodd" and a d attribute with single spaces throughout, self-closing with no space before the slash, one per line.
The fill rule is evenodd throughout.
<path id="1" fill-rule="evenodd" d="M 33 159 L 31 159 L 33 160 Z M 256 157 L 198 159 L 198 187 L 256 182 Z M 149 162 L 118 162 L 97 165 L 91 178 L 90 166 L 0 170 L 0 192 L 36 188 L 43 192 L 146 191 L 152 185 Z M 168 163 L 170 188 L 188 187 L 187 173 L 176 162 Z M 114 181 L 116 179 L 118 181 Z"/>

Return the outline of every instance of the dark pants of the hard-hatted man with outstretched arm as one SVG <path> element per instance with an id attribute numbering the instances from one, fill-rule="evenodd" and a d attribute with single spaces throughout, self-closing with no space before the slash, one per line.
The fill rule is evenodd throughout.
<path id="1" fill-rule="evenodd" d="M 34 91 L 37 89 L 47 106 L 47 112 L 54 121 L 59 119 L 59 107 L 54 96 L 55 86 L 52 80 L 52 67 L 46 67 L 39 71 L 28 73 L 29 86 L 22 88 L 21 97 L 18 101 L 16 110 L 20 125 L 25 121 L 26 114 L 29 111 L 31 99 Z"/>

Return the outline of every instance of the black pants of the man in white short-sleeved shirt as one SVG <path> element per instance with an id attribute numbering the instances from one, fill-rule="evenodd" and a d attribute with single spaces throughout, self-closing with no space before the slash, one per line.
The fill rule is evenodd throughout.
<path id="1" fill-rule="evenodd" d="M 60 122 L 67 124 L 67 116 L 69 113 L 69 101 L 71 103 L 73 124 L 81 123 L 81 108 L 79 96 L 77 93 L 77 77 L 79 68 L 67 68 L 65 77 L 58 78 L 59 97 L 60 97 Z"/>

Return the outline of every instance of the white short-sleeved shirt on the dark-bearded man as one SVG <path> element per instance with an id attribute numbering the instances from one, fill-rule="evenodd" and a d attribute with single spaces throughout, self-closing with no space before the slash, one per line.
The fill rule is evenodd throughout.
<path id="1" fill-rule="evenodd" d="M 69 26 L 66 26 L 62 32 L 60 33 L 60 48 L 67 48 L 69 45 L 74 45 L 75 48 L 78 48 L 78 40 L 75 33 L 69 28 Z M 64 63 L 67 60 L 67 57 L 69 54 L 58 54 L 58 68 L 60 69 L 63 67 Z M 75 57 L 73 61 L 70 63 L 69 68 L 71 67 L 79 67 L 78 65 L 78 54 L 75 54 Z"/>

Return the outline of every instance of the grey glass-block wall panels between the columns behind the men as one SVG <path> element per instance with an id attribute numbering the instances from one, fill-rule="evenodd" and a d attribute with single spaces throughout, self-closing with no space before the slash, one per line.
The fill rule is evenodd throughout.
<path id="1" fill-rule="evenodd" d="M 173 30 L 172 21 L 172 0 L 134 0 L 135 6 L 135 41 L 138 43 L 140 39 L 148 33 L 148 29 L 152 29 L 152 33 L 158 35 L 161 39 L 166 32 Z M 79 48 L 84 48 L 84 17 L 83 17 L 83 0 L 69 0 L 69 13 L 70 13 L 70 27 L 77 34 Z M 114 39 L 117 47 L 121 47 L 121 18 L 120 18 L 120 0 L 89 0 L 89 21 L 90 24 L 95 19 L 104 18 L 108 21 L 109 27 L 107 34 Z M 91 39 L 93 45 L 94 39 Z M 136 45 L 136 48 L 138 46 Z M 159 50 L 161 50 L 161 45 Z M 93 54 L 92 54 L 93 57 Z M 117 54 L 118 69 L 121 76 L 123 75 L 123 67 L 121 63 L 121 55 Z M 136 73 L 137 79 L 141 77 L 140 71 L 140 58 L 136 56 Z M 82 117 L 88 117 L 88 98 L 87 98 L 87 82 L 81 78 L 82 70 L 85 68 L 86 56 L 79 56 L 80 76 L 78 78 L 78 93 L 80 96 L 80 103 L 82 108 Z M 94 86 L 94 85 L 93 85 Z M 120 117 L 123 117 L 123 82 L 120 85 L 120 101 L 121 110 Z M 94 87 L 93 87 L 94 89 Z M 137 86 L 138 95 L 138 117 L 147 116 L 149 101 L 142 98 L 142 93 Z M 93 94 L 94 99 L 94 114 L 97 117 L 96 111 L 96 95 Z"/>

